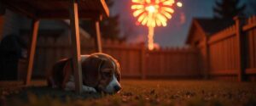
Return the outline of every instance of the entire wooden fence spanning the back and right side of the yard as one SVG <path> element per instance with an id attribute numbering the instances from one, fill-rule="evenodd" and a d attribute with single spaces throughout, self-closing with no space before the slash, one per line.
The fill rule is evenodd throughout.
<path id="1" fill-rule="evenodd" d="M 81 41 L 81 53 L 95 52 L 94 40 Z M 207 36 L 198 48 L 161 48 L 148 51 L 143 44 L 102 41 L 103 52 L 119 60 L 123 77 L 198 78 L 256 81 L 256 17 Z M 44 76 L 52 65 L 70 57 L 67 38 L 38 39 L 34 76 Z"/>

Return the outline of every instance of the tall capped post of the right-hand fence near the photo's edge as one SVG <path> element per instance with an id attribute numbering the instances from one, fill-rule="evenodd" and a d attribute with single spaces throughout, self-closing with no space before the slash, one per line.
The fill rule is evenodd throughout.
<path id="1" fill-rule="evenodd" d="M 236 21 L 236 38 L 237 38 L 237 53 L 238 53 L 238 69 L 237 69 L 237 80 L 245 80 L 245 37 L 242 36 L 242 26 L 244 24 L 243 19 L 239 16 L 234 18 Z"/>

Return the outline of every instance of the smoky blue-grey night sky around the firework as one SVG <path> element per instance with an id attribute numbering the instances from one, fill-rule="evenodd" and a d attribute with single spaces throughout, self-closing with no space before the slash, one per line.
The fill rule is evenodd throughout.
<path id="1" fill-rule="evenodd" d="M 172 20 L 168 21 L 166 27 L 156 27 L 154 40 L 161 47 L 181 47 L 184 45 L 188 35 L 189 26 L 194 17 L 211 18 L 214 0 L 180 0 L 183 8 L 175 8 Z M 115 0 L 111 14 L 119 14 L 121 35 L 129 31 L 129 42 L 143 42 L 147 38 L 146 26 L 136 25 L 136 19 L 132 16 L 131 0 Z"/>

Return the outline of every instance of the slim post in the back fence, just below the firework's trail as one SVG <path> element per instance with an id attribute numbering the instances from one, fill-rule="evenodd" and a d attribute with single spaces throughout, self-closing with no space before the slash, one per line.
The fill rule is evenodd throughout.
<path id="1" fill-rule="evenodd" d="M 146 60 L 146 48 L 145 44 L 142 43 L 141 46 L 141 78 L 144 80 L 146 79 L 146 71 L 145 71 L 145 60 Z"/>

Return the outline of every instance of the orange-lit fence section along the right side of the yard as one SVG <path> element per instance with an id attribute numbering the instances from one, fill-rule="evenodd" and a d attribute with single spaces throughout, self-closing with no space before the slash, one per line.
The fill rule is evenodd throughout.
<path id="1" fill-rule="evenodd" d="M 201 42 L 204 63 L 208 63 L 205 75 L 256 81 L 256 17 L 235 21 L 236 24 Z"/>

